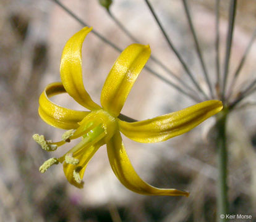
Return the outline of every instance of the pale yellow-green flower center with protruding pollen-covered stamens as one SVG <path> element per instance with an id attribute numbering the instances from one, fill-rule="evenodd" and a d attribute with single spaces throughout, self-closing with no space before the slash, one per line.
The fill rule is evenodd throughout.
<path id="1" fill-rule="evenodd" d="M 38 134 L 33 136 L 35 141 L 38 142 L 43 149 L 48 151 L 56 150 L 58 146 L 62 146 L 72 139 L 83 138 L 82 141 L 72 147 L 66 154 L 62 155 L 62 157 L 50 158 L 43 163 L 40 167 L 41 173 L 44 173 L 51 165 L 61 162 L 66 166 L 64 168 L 72 171 L 70 183 L 72 183 L 73 178 L 75 183 L 82 184 L 81 178 L 83 171 L 81 171 L 81 169 L 87 165 L 96 150 L 106 144 L 118 129 L 117 119 L 103 109 L 90 112 L 80 121 L 79 125 L 79 128 L 76 130 L 66 131 L 66 133 L 62 135 L 62 141 L 60 142 L 46 141 L 44 136 L 39 136 Z M 69 167 L 67 167 L 67 165 L 69 165 Z"/>

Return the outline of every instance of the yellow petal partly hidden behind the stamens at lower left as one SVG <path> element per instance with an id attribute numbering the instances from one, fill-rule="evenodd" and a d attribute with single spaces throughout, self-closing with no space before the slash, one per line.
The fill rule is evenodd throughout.
<path id="1" fill-rule="evenodd" d="M 74 154 L 73 157 L 76 159 L 79 159 L 79 164 L 77 165 L 66 163 L 66 162 L 63 163 L 64 174 L 70 184 L 78 188 L 83 187 L 83 182 L 77 183 L 77 181 L 75 181 L 74 170 L 79 169 L 79 176 L 82 179 L 83 174 L 85 173 L 85 168 L 87 167 L 87 163 L 90 161 L 90 159 L 93 157 L 95 152 L 99 149 L 99 147 L 100 146 L 98 145 L 86 147 L 85 149 L 83 149 L 83 152 L 77 152 L 77 154 Z"/>

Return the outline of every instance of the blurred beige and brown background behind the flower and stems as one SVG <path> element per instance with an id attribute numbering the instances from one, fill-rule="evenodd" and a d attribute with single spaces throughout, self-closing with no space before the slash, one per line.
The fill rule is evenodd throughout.
<path id="1" fill-rule="evenodd" d="M 98 1 L 62 0 L 66 7 L 117 46 L 133 41 L 117 27 Z M 215 83 L 215 2 L 188 1 L 203 56 Z M 182 2 L 151 1 L 173 43 L 205 88 Z M 182 80 L 188 81 L 179 61 L 168 48 L 145 2 L 114 1 L 112 14 L 140 43 Z M 255 1 L 238 1 L 230 71 L 234 72 L 256 22 Z M 228 1 L 220 5 L 220 52 L 223 61 Z M 190 197 L 151 197 L 127 190 L 114 176 L 106 147 L 92 158 L 85 186 L 71 186 L 56 165 L 41 174 L 40 165 L 59 157 L 75 143 L 47 153 L 32 139 L 34 133 L 58 141 L 63 130 L 46 125 L 37 113 L 38 98 L 46 84 L 60 81 L 59 63 L 66 41 L 81 25 L 50 0 L 0 1 L 0 221 L 216 221 L 216 149 L 210 118 L 194 130 L 159 144 L 124 139 L 137 173 L 157 187 L 186 189 Z M 119 53 L 90 33 L 83 44 L 85 88 L 95 102 Z M 253 44 L 235 89 L 255 78 L 256 44 Z M 156 72 L 163 68 L 148 61 Z M 171 79 L 171 78 L 170 78 Z M 174 80 L 175 81 L 175 80 Z M 53 98 L 70 109 L 80 109 L 68 95 Z M 252 104 L 255 95 L 248 98 Z M 143 70 L 122 113 L 143 120 L 183 109 L 194 101 Z M 256 221 L 255 105 L 237 109 L 228 120 L 229 203 L 231 213 L 252 215 Z M 75 141 L 77 142 L 77 141 Z M 236 221 L 236 220 L 233 220 Z M 241 221 L 241 220 L 239 220 Z"/>

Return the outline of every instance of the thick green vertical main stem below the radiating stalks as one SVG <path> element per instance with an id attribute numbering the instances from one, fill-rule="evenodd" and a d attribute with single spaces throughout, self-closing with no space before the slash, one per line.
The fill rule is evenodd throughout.
<path id="1" fill-rule="evenodd" d="M 223 109 L 217 117 L 217 148 L 218 148 L 218 191 L 217 191 L 217 218 L 218 221 L 228 221 L 228 186 L 227 186 L 227 164 L 228 164 L 228 150 L 226 144 L 226 120 L 228 116 L 228 109 Z M 224 216 L 221 216 L 224 215 Z M 223 218 L 224 217 L 224 218 Z"/>

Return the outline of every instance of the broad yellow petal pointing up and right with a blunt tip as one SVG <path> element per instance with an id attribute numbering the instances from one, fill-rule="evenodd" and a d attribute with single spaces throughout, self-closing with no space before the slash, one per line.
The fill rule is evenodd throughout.
<path id="1" fill-rule="evenodd" d="M 117 117 L 137 76 L 150 57 L 150 47 L 141 44 L 128 46 L 117 58 L 101 91 L 101 105 Z"/>

